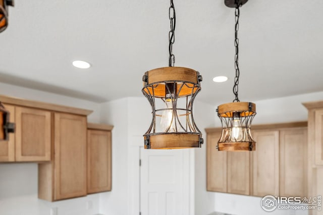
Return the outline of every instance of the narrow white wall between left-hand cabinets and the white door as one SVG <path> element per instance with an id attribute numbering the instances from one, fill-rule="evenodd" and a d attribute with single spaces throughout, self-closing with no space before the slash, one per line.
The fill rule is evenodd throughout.
<path id="1" fill-rule="evenodd" d="M 112 190 L 100 193 L 99 211 L 105 215 L 128 214 L 128 99 L 101 105 L 101 123 L 112 130 Z"/>

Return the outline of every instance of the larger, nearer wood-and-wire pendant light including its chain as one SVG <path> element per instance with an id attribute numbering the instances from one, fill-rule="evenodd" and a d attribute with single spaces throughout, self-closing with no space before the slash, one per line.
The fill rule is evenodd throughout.
<path id="1" fill-rule="evenodd" d="M 174 66 L 176 14 L 173 0 L 170 2 L 169 66 L 149 70 L 142 78 L 142 93 L 152 109 L 151 124 L 143 135 L 145 149 L 199 148 L 203 144 L 193 117 L 202 76 L 194 69 Z"/>

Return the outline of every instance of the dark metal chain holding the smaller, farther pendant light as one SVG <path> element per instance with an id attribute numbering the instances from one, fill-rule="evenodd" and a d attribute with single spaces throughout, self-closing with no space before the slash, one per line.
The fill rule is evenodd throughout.
<path id="1" fill-rule="evenodd" d="M 236 20 L 236 25 L 235 25 L 235 40 L 234 40 L 234 45 L 236 47 L 236 54 L 234 56 L 235 58 L 235 63 L 234 67 L 236 69 L 236 77 L 234 78 L 234 86 L 233 86 L 233 93 L 236 96 L 236 98 L 233 100 L 233 102 L 240 102 L 238 98 L 238 85 L 239 85 L 239 76 L 240 76 L 240 70 L 239 70 L 239 39 L 238 39 L 238 30 L 239 30 L 239 16 L 240 16 L 240 10 L 239 10 L 239 4 L 238 1 L 236 0 L 236 10 L 235 10 L 235 20 Z"/>

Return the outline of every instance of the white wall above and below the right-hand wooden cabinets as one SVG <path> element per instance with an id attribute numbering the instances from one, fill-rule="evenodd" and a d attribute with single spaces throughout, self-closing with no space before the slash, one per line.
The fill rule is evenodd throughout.
<path id="1" fill-rule="evenodd" d="M 254 101 L 254 103 L 256 103 L 257 115 L 254 118 L 253 124 L 306 121 L 307 109 L 301 103 L 319 100 L 323 100 L 323 92 Z M 237 215 L 267 214 L 267 212 L 262 210 L 260 207 L 260 197 L 227 193 L 214 193 L 214 197 L 214 210 L 216 211 Z M 196 213 L 196 215 L 197 214 L 204 213 Z M 300 215 L 307 214 L 307 210 L 276 209 L 275 211 L 271 212 L 271 214 Z"/>

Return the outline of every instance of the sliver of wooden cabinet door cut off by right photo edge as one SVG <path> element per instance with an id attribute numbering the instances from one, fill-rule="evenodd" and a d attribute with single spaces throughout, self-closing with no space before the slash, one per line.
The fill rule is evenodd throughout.
<path id="1" fill-rule="evenodd" d="M 323 110 L 315 110 L 315 165 L 323 165 Z"/>

